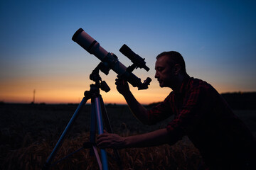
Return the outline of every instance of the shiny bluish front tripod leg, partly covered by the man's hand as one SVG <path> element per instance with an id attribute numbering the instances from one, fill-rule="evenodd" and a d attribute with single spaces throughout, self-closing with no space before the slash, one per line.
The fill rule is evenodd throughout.
<path id="1" fill-rule="evenodd" d="M 99 131 L 99 135 L 103 133 L 103 123 L 102 123 L 102 112 L 100 105 L 100 97 L 92 98 L 92 107 L 95 109 L 96 117 L 97 117 L 97 127 Z M 103 170 L 107 170 L 107 152 L 105 149 L 100 149 L 101 157 L 102 157 L 102 167 Z"/>

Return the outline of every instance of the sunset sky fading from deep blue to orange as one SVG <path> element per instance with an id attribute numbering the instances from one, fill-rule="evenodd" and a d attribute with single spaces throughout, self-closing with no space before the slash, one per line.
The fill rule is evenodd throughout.
<path id="1" fill-rule="evenodd" d="M 178 51 L 191 77 L 221 93 L 256 91 L 256 1 L 0 1 L 0 101 L 5 103 L 80 103 L 100 63 L 71 38 L 82 28 L 126 67 L 119 52 L 126 44 L 145 58 L 149 89 L 130 85 L 143 104 L 163 101 L 171 92 L 154 79 L 156 55 Z M 105 103 L 125 103 L 117 74 L 103 80 Z"/>

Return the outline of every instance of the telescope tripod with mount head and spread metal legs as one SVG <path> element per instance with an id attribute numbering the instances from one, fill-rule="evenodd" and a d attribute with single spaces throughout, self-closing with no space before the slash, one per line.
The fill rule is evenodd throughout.
<path id="1" fill-rule="evenodd" d="M 85 103 L 89 99 L 91 99 L 91 106 L 92 106 L 91 107 L 90 142 L 85 142 L 82 148 L 90 148 L 90 153 L 92 154 L 92 152 L 93 152 L 93 154 L 95 154 L 95 157 L 97 159 L 97 164 L 99 165 L 100 170 L 108 169 L 107 152 L 105 151 L 105 149 L 100 149 L 101 158 L 102 158 L 102 161 L 100 161 L 100 156 L 97 152 L 96 145 L 95 145 L 96 124 L 97 124 L 97 129 L 98 129 L 99 135 L 103 133 L 103 120 L 105 121 L 105 126 L 107 128 L 107 131 L 112 133 L 110 120 L 107 115 L 107 111 L 106 111 L 103 99 L 100 95 L 100 89 L 108 92 L 108 91 L 110 91 L 110 87 L 107 86 L 105 81 L 101 81 L 101 77 L 99 75 L 99 69 L 100 69 L 99 66 L 96 67 L 95 70 L 92 71 L 92 74 L 90 74 L 90 79 L 92 79 L 92 81 L 95 81 L 95 84 L 90 84 L 90 91 L 85 91 L 84 98 L 82 98 L 82 101 L 80 102 L 78 108 L 76 109 L 75 113 L 73 114 L 72 118 L 70 119 L 70 121 L 69 121 L 68 125 L 66 126 L 65 130 L 63 131 L 62 135 L 60 136 L 53 151 L 51 152 L 50 156 L 48 157 L 46 163 L 43 165 L 43 169 L 49 169 L 50 166 L 58 164 L 58 162 L 60 162 L 61 160 L 66 158 L 65 157 L 63 159 L 60 159 L 58 162 L 55 162 L 52 164 L 55 154 L 58 152 L 58 149 L 60 149 L 61 145 L 63 144 L 63 141 L 65 140 L 65 137 L 68 133 L 68 130 L 70 130 L 70 128 L 72 127 L 76 118 L 78 118 L 78 115 L 80 114 L 83 106 L 85 106 Z M 80 148 L 80 149 L 82 149 L 82 148 Z M 80 151 L 80 149 L 78 149 L 75 152 Z M 74 154 L 75 152 L 73 152 L 71 154 Z M 68 155 L 68 157 L 70 155 Z M 122 169 L 122 163 L 121 163 L 121 159 L 119 157 L 119 153 L 117 152 L 117 149 L 114 149 L 114 158 L 116 159 L 117 164 L 119 165 L 119 169 Z"/>

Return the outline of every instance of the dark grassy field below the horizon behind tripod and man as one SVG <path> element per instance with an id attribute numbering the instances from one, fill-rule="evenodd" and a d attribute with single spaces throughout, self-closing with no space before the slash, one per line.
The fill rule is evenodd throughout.
<path id="1" fill-rule="evenodd" d="M 77 105 L 0 104 L 0 169 L 41 169 Z M 113 131 L 119 135 L 136 135 L 166 126 L 142 125 L 128 106 L 107 105 Z M 256 135 L 256 111 L 235 111 Z M 90 136 L 90 105 L 85 106 L 63 142 L 55 159 L 82 147 Z M 107 152 L 113 155 L 112 149 Z M 139 149 L 119 149 L 123 169 L 197 169 L 201 162 L 198 150 L 187 137 L 176 145 Z M 119 169 L 108 157 L 109 169 Z M 56 164 L 50 169 L 98 169 L 89 149 Z"/>

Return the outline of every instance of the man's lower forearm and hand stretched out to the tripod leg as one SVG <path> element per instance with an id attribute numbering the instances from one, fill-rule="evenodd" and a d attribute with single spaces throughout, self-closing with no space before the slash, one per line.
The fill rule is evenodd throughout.
<path id="1" fill-rule="evenodd" d="M 154 147 L 169 142 L 169 132 L 166 128 L 129 137 L 107 132 L 97 137 L 97 147 L 100 148 Z"/>

